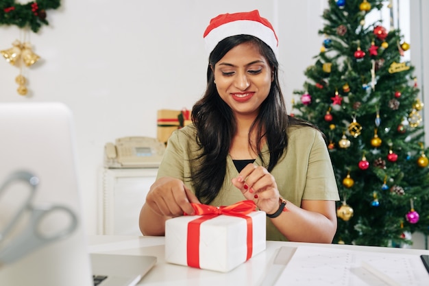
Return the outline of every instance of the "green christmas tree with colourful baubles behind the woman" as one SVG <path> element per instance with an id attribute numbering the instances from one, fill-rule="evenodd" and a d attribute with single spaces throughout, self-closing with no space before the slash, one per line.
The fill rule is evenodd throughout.
<path id="1" fill-rule="evenodd" d="M 328 0 L 324 35 L 292 115 L 326 134 L 341 202 L 334 243 L 411 244 L 429 234 L 428 149 L 410 45 L 382 19 L 381 0 Z"/>

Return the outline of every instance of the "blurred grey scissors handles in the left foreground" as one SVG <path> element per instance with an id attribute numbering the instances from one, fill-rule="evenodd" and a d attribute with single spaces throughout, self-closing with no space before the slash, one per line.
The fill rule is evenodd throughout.
<path id="1" fill-rule="evenodd" d="M 0 186 L 0 196 L 12 182 L 16 181 L 29 184 L 30 192 L 21 205 L 21 208 L 14 213 L 10 222 L 8 222 L 3 230 L 0 230 L 0 245 L 25 212 L 29 212 L 28 225 L 25 226 L 18 237 L 14 237 L 14 239 L 11 239 L 10 243 L 0 249 L 0 266 L 17 261 L 29 254 L 29 252 L 45 246 L 48 243 L 63 239 L 71 235 L 77 228 L 77 216 L 70 208 L 57 204 L 43 204 L 40 206 L 34 206 L 32 204 L 39 179 L 28 171 L 15 171 L 12 173 Z M 43 233 L 40 229 L 43 219 L 45 219 L 47 215 L 54 215 L 52 213 L 58 212 L 68 215 L 69 226 L 58 230 L 56 233 Z"/>

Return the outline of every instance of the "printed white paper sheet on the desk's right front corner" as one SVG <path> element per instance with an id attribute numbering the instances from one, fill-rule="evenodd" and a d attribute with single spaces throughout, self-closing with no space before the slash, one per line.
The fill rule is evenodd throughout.
<path id="1" fill-rule="evenodd" d="M 274 285 L 427 286 L 429 275 L 418 255 L 299 246 Z"/>

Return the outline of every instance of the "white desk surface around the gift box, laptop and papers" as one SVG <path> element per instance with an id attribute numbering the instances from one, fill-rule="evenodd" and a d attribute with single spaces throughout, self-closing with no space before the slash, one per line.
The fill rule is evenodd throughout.
<path id="1" fill-rule="evenodd" d="M 200 270 L 193 267 L 174 265 L 164 259 L 164 237 L 134 237 L 96 235 L 88 238 L 89 251 L 93 253 L 152 255 L 158 258 L 154 268 L 143 277 L 138 285 L 195 285 L 195 286 L 249 286 L 273 285 L 284 265 L 273 263 L 280 248 L 293 250 L 297 246 L 350 249 L 395 254 L 429 254 L 429 250 L 409 248 L 380 248 L 373 246 L 347 246 L 338 244 L 296 243 L 267 241 L 267 249 L 228 273 Z M 284 249 L 284 248 L 282 248 Z M 284 261 L 286 263 L 286 261 Z M 284 281 L 284 285 L 288 285 Z"/>

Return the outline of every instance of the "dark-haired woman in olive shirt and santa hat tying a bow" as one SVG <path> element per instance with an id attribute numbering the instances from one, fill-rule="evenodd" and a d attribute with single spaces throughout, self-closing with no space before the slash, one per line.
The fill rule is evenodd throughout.
<path id="1" fill-rule="evenodd" d="M 254 200 L 267 240 L 330 243 L 336 231 L 334 172 L 323 134 L 286 115 L 277 36 L 258 11 L 221 14 L 204 34 L 207 88 L 191 126 L 175 131 L 140 211 L 143 235 L 192 203 Z"/>

